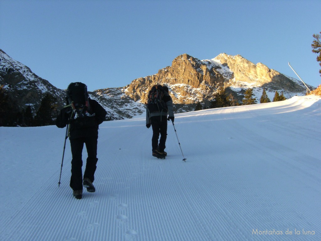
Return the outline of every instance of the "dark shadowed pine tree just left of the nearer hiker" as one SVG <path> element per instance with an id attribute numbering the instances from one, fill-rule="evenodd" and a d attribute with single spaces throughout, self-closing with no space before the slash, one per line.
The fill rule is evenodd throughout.
<path id="1" fill-rule="evenodd" d="M 36 126 L 48 126 L 54 124 L 54 115 L 56 114 L 56 98 L 51 94 L 46 94 L 41 100 L 40 107 L 36 112 L 34 124 Z"/>

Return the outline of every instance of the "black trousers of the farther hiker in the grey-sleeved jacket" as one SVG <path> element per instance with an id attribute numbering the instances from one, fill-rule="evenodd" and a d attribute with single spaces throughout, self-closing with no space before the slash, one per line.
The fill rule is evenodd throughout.
<path id="1" fill-rule="evenodd" d="M 160 152 L 164 152 L 165 143 L 167 138 L 167 117 L 166 116 L 152 116 L 151 124 L 153 129 L 152 136 L 152 151 L 159 148 Z M 158 144 L 158 138 L 160 136 L 160 142 Z"/>

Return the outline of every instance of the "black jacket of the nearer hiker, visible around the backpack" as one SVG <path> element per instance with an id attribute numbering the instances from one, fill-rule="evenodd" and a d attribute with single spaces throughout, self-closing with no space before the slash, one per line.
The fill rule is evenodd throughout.
<path id="1" fill-rule="evenodd" d="M 98 137 L 98 125 L 100 125 L 106 118 L 106 110 L 95 100 L 89 99 L 91 111 L 95 113 L 92 117 L 84 117 L 74 119 L 71 118 L 72 109 L 66 107 L 60 110 L 60 114 L 56 118 L 56 126 L 64 128 L 68 123 L 70 124 L 69 138 L 82 137 Z M 81 121 L 81 125 L 79 124 Z M 83 123 L 85 121 L 85 123 Z"/>

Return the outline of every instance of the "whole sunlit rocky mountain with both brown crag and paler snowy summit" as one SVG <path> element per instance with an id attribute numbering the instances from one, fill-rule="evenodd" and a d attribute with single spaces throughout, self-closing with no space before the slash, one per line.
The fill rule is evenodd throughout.
<path id="1" fill-rule="evenodd" d="M 263 88 L 270 95 L 276 90 L 284 91 L 288 97 L 293 93 L 302 94 L 306 90 L 301 82 L 262 63 L 254 64 L 241 55 L 231 56 L 226 53 L 206 60 L 182 54 L 172 61 L 171 66 L 160 69 L 157 74 L 135 79 L 126 86 L 125 94 L 144 103 L 149 88 L 156 84 L 167 85 L 173 102 L 185 105 L 185 110 L 188 109 L 187 105 L 193 106 L 197 101 L 212 100 L 220 86 L 229 88 L 229 93 L 239 100 L 249 87 L 256 89 L 254 93 L 258 95 L 257 99 Z"/>

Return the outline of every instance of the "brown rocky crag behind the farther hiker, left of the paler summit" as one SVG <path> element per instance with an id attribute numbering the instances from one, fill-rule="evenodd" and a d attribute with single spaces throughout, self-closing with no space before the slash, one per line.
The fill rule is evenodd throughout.
<path id="1" fill-rule="evenodd" d="M 171 66 L 160 69 L 157 74 L 135 79 L 126 86 L 125 93 L 135 101 L 144 103 L 150 87 L 161 84 L 169 87 L 176 104 L 203 102 L 225 80 L 216 68 L 221 67 L 183 54 L 175 58 Z"/>

